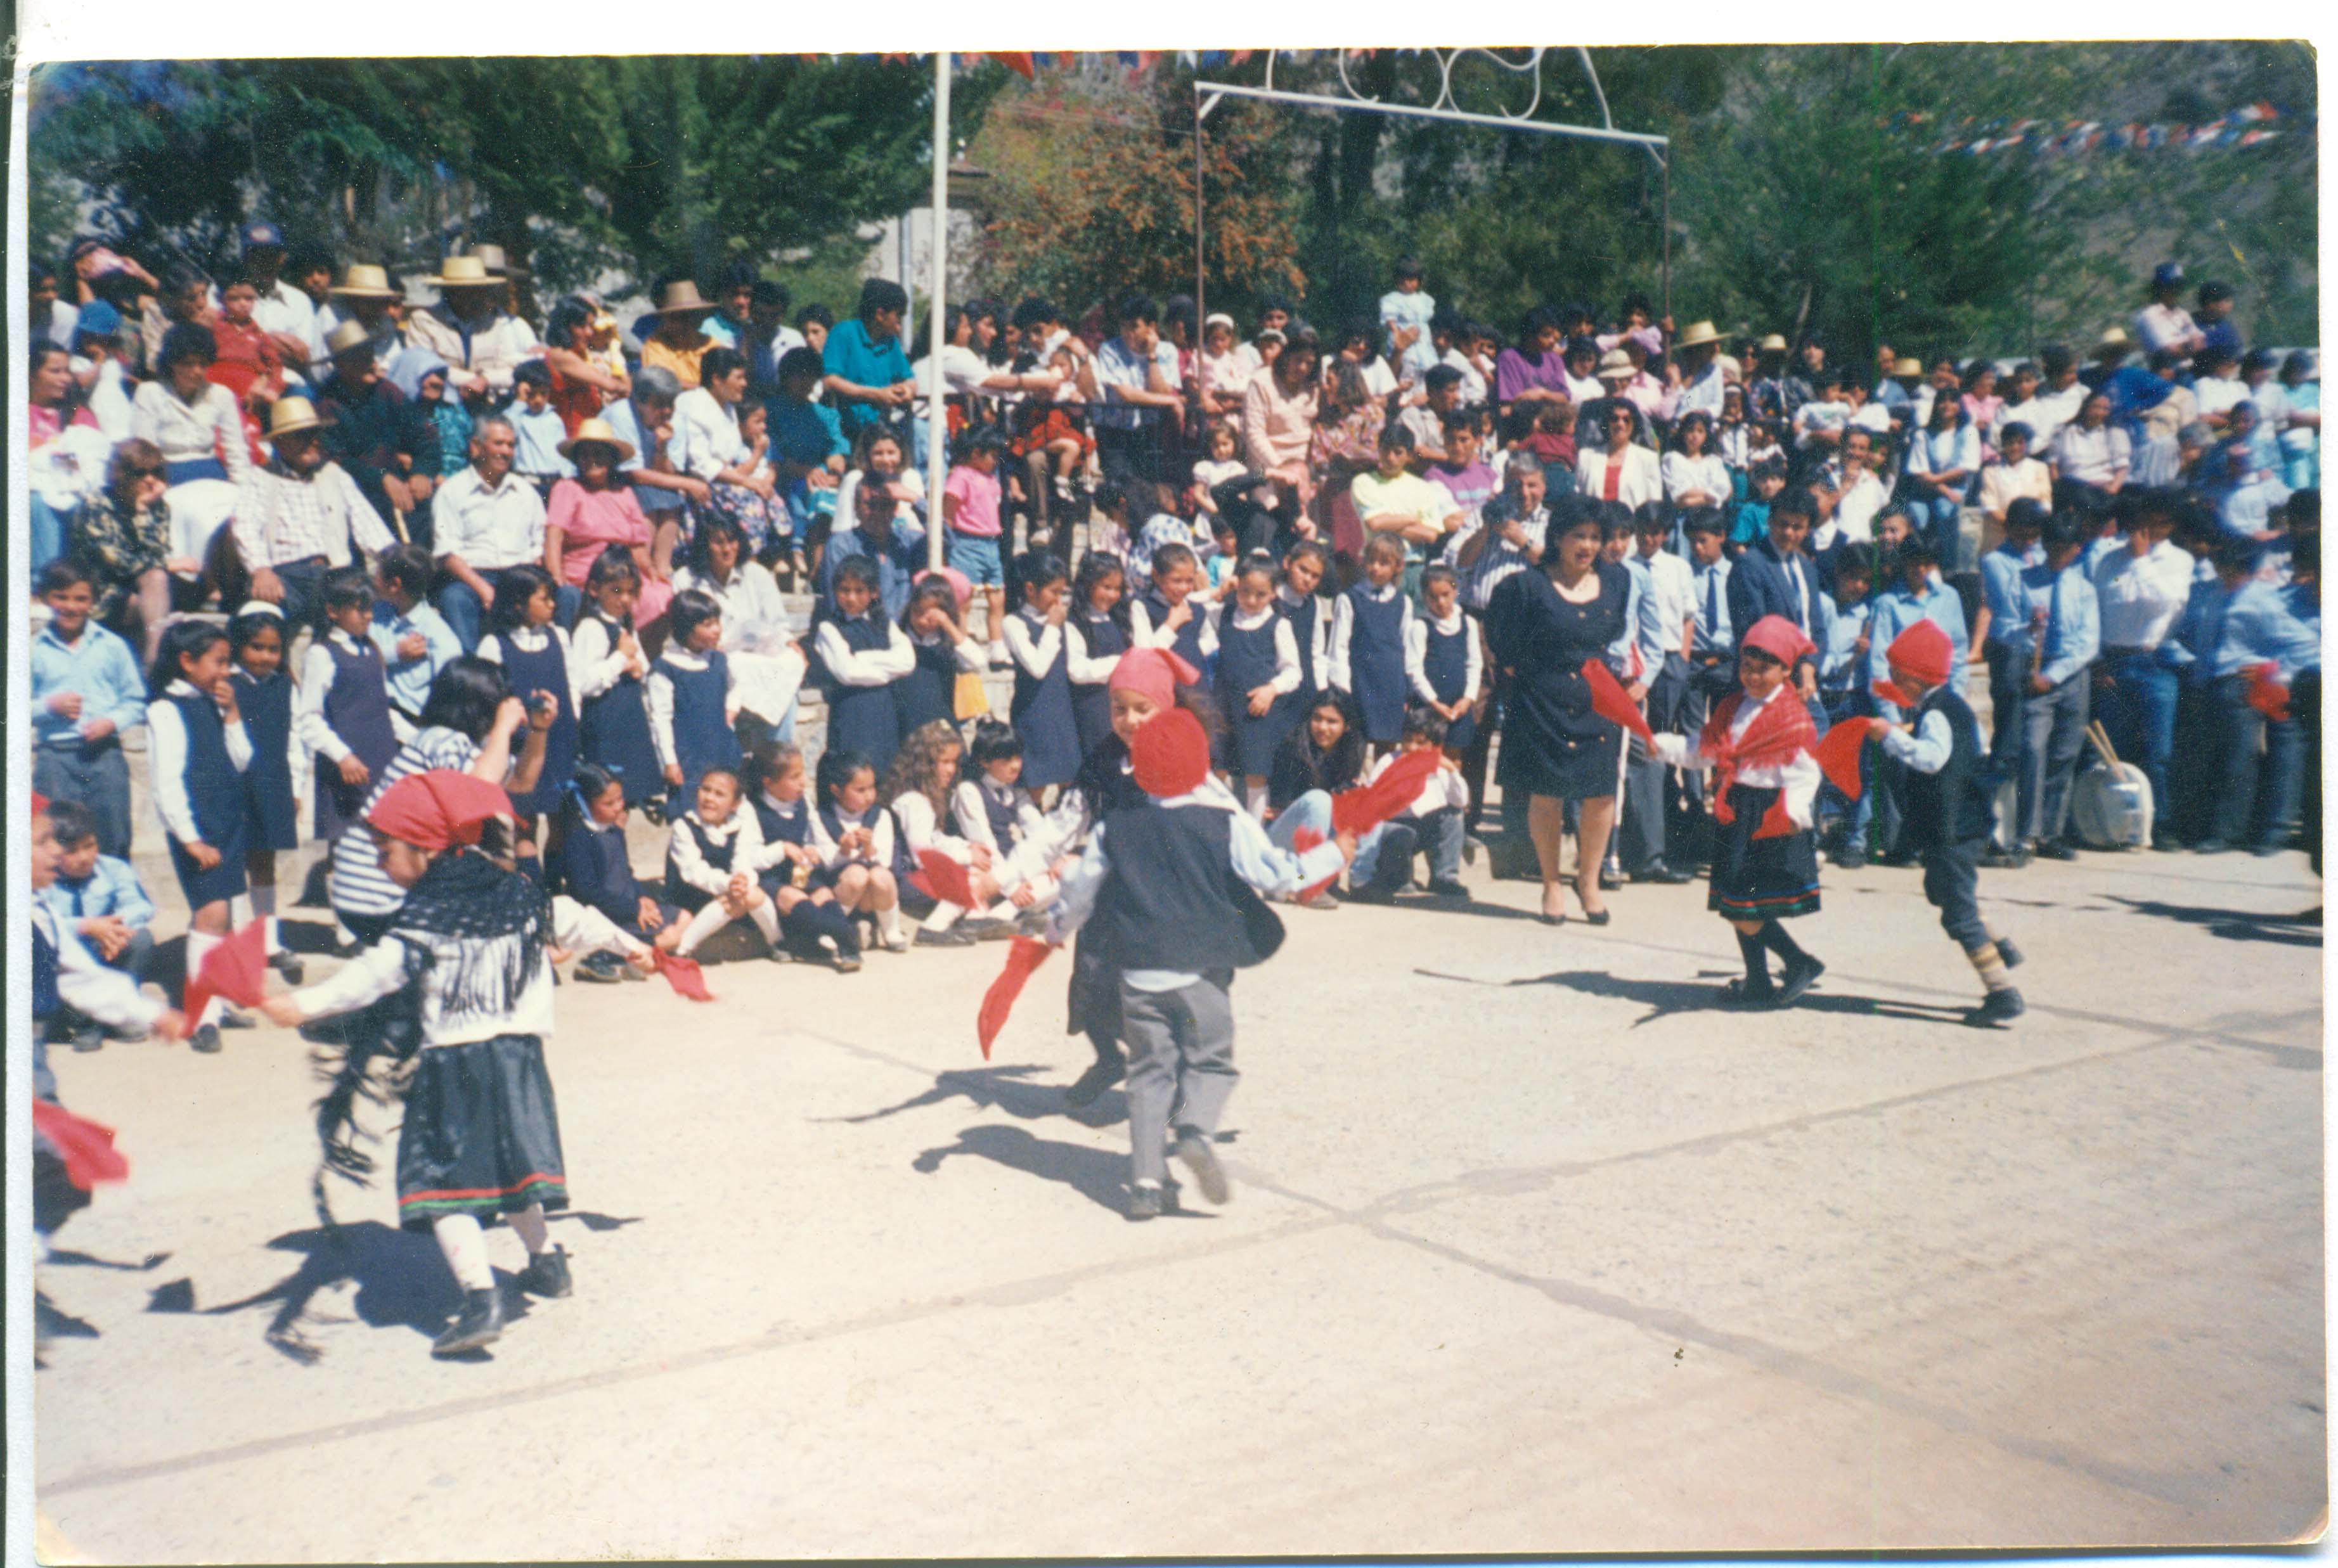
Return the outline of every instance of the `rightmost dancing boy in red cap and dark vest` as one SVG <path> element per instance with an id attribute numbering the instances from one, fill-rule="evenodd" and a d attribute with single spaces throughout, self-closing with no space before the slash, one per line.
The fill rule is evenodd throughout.
<path id="1" fill-rule="evenodd" d="M 1980 783 L 1985 752 L 1980 722 L 1955 689 L 1962 673 L 1957 645 L 1934 622 L 1917 622 L 1884 650 L 1891 687 L 1877 696 L 1908 710 L 1905 724 L 1868 720 L 1884 755 L 1908 769 L 1901 792 L 1903 844 L 1924 862 L 1924 897 L 1941 911 L 1941 928 L 1957 939 L 1987 986 L 1966 1024 L 1992 1028 L 2022 1017 L 2022 993 L 2006 974 L 2022 960 L 2018 946 L 1992 937 L 1980 918 L 1980 851 L 1990 846 L 1997 806 Z"/>

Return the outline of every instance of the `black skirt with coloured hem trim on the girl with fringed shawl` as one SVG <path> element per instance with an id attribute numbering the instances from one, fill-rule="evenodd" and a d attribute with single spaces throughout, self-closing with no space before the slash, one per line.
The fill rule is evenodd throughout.
<path id="1" fill-rule="evenodd" d="M 561 1117 L 535 1035 L 433 1045 L 414 1063 L 397 1131 L 397 1224 L 568 1208 Z"/>

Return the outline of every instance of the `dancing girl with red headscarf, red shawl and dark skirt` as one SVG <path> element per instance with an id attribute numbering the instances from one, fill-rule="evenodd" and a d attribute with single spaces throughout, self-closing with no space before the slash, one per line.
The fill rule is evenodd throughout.
<path id="1" fill-rule="evenodd" d="M 1819 911 L 1819 848 L 1812 806 L 1819 797 L 1819 734 L 1793 692 L 1793 666 L 1814 650 L 1782 615 L 1765 615 L 1737 643 L 1742 692 L 1721 699 L 1704 729 L 1655 736 L 1667 766 L 1714 769 L 1711 890 L 1704 907 L 1737 930 L 1746 974 L 1728 995 L 1754 1007 L 1786 1007 L 1826 965 L 1796 946 L 1779 921 Z M 1770 979 L 1770 953 L 1784 974 Z"/>

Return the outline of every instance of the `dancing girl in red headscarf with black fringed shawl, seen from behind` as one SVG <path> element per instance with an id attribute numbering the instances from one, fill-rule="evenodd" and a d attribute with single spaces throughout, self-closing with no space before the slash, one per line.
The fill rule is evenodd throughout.
<path id="1" fill-rule="evenodd" d="M 437 1236 L 463 1288 L 463 1311 L 433 1355 L 477 1351 L 503 1334 L 503 1299 L 479 1220 L 498 1213 L 528 1248 L 519 1288 L 570 1292 L 568 1253 L 545 1234 L 545 1210 L 568 1208 L 561 1124 L 545 1073 L 552 1033 L 552 949 L 655 956 L 608 916 L 549 900 L 535 881 L 479 851 L 479 830 L 512 816 L 496 785 L 430 769 L 381 792 L 365 813 L 381 872 L 407 890 L 390 930 L 341 970 L 260 1010 L 285 1028 L 353 1012 L 407 986 L 421 993 L 423 1042 L 397 1131 L 397 1220 Z M 362 1075 L 358 1061 L 348 1070 Z M 346 1101 L 344 1101 L 346 1103 Z M 337 1126 L 323 1129 L 327 1164 Z M 346 1168 L 346 1166 L 344 1166 Z"/>

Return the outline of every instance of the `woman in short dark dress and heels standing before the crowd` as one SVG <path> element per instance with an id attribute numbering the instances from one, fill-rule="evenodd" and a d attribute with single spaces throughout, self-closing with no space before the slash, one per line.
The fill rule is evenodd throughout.
<path id="1" fill-rule="evenodd" d="M 1583 666 L 1604 659 L 1627 633 L 1632 575 L 1602 561 L 1609 521 L 1595 505 L 1564 498 L 1552 507 L 1538 570 L 1513 573 L 1494 589 L 1485 633 L 1501 671 L 1503 792 L 1522 790 L 1527 832 L 1543 869 L 1543 921 L 1566 918 L 1559 888 L 1559 837 L 1566 802 L 1578 802 L 1576 897 L 1592 925 L 1606 925 L 1599 862 L 1616 827 L 1616 762 L 1623 729 L 1592 713 Z"/>

